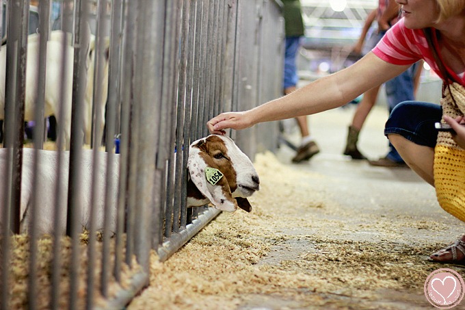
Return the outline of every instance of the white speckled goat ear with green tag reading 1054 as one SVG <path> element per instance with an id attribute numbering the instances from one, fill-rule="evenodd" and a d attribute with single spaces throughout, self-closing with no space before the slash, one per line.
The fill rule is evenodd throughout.
<path id="1" fill-rule="evenodd" d="M 195 146 L 191 147 L 189 151 L 187 169 L 191 180 L 198 190 L 215 205 L 216 209 L 228 212 L 236 211 L 237 201 L 231 194 L 226 177 L 221 174 L 220 170 L 217 170 L 217 167 L 213 167 L 213 164 L 208 166 L 202 158 L 202 154 L 208 156 Z"/>

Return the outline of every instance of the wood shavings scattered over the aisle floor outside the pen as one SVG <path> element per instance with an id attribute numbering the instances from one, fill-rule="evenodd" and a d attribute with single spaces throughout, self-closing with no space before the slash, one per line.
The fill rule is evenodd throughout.
<path id="1" fill-rule="evenodd" d="M 325 176 L 282 165 L 272 153 L 258 154 L 254 166 L 261 190 L 250 198 L 252 212 L 223 212 L 165 263 L 153 253 L 150 285 L 128 309 L 429 305 L 424 281 L 444 265 L 427 255 L 443 244 L 409 242 L 399 228 L 433 234 L 444 224 L 357 214 L 328 198 L 318 185 Z"/>

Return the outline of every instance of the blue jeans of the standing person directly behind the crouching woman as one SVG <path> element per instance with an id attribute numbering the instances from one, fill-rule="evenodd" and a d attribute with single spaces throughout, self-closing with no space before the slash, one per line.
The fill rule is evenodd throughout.
<path id="1" fill-rule="evenodd" d="M 386 99 L 388 101 L 389 113 L 393 111 L 394 107 L 403 101 L 413 101 L 414 98 L 414 85 L 413 79 L 418 69 L 419 63 L 412 64 L 410 68 L 405 70 L 397 77 L 390 79 L 384 83 L 386 89 Z M 389 142 L 389 153 L 386 155 L 388 159 L 394 162 L 403 162 L 403 159 L 393 144 Z"/>

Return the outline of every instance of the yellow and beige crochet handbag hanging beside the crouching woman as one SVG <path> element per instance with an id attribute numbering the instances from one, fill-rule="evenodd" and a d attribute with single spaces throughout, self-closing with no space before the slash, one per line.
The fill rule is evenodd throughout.
<path id="1" fill-rule="evenodd" d="M 441 106 L 442 115 L 452 118 L 463 116 L 464 86 L 451 83 L 444 87 Z M 442 209 L 465 222 L 465 150 L 455 143 L 447 131 L 438 133 L 434 148 L 434 187 Z"/>

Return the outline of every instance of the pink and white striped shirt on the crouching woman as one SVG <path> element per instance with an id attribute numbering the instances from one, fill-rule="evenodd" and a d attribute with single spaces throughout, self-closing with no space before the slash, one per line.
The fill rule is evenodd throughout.
<path id="1" fill-rule="evenodd" d="M 439 53 L 436 31 L 432 31 L 432 33 L 434 46 L 436 47 L 436 51 Z M 390 64 L 414 64 L 415 62 L 423 59 L 439 77 L 444 79 L 442 73 L 440 73 L 438 65 L 434 61 L 433 54 L 429 50 L 423 30 L 408 29 L 403 23 L 403 18 L 401 18 L 399 22 L 386 32 L 382 40 L 372 51 L 375 55 L 377 55 L 377 57 L 380 57 L 382 60 L 389 62 Z M 463 74 L 462 77 L 459 77 L 457 73 L 447 67 L 446 64 L 444 64 L 444 66 L 449 71 L 449 75 L 451 75 L 455 81 L 460 81 L 460 83 L 465 86 Z"/>

